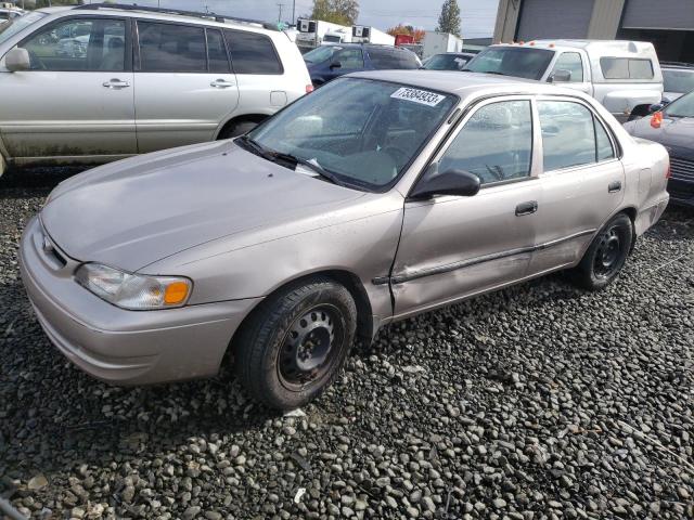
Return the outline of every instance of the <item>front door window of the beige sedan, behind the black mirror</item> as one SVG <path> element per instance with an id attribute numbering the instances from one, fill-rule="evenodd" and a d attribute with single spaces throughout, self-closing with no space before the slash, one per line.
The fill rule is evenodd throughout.
<path id="1" fill-rule="evenodd" d="M 502 101 L 479 108 L 439 160 L 438 171 L 464 170 L 483 184 L 530 176 L 532 116 L 529 101 Z"/>

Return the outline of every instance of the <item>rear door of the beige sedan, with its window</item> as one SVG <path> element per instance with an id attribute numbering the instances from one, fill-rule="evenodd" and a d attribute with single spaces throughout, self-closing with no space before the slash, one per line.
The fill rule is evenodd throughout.
<path id="1" fill-rule="evenodd" d="M 580 100 L 537 100 L 542 132 L 542 203 L 530 273 L 576 263 L 618 209 L 625 171 L 614 136 Z"/>

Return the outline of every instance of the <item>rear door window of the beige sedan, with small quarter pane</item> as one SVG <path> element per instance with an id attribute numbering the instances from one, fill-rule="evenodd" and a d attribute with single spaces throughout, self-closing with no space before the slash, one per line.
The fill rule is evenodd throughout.
<path id="1" fill-rule="evenodd" d="M 544 171 L 615 156 L 607 132 L 588 107 L 570 101 L 539 101 L 538 113 Z"/>

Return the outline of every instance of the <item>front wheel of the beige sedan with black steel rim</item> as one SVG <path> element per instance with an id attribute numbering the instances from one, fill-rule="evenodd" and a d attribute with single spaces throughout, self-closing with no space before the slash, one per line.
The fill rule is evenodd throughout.
<path id="1" fill-rule="evenodd" d="M 318 398 L 347 359 L 357 306 L 324 277 L 288 286 L 264 301 L 234 341 L 239 379 L 255 400 L 292 410 Z"/>

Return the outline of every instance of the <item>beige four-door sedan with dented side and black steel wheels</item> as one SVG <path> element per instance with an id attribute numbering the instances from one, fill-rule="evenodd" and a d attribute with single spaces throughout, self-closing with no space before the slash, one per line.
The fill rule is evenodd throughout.
<path id="1" fill-rule="evenodd" d="M 292 408 L 355 335 L 562 269 L 605 287 L 665 210 L 667 170 L 661 145 L 570 89 L 361 73 L 233 141 L 64 181 L 20 263 L 88 373 L 211 376 L 231 349 L 253 396 Z"/>

